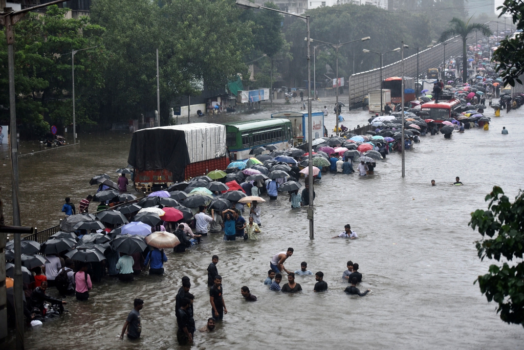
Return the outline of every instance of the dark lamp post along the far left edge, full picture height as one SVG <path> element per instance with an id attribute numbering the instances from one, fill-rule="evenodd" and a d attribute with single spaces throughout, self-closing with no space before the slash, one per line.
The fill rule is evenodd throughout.
<path id="1" fill-rule="evenodd" d="M 22 19 L 29 11 L 50 5 L 60 4 L 66 0 L 55 0 L 47 4 L 36 5 L 14 11 L 11 7 L 5 7 L 0 13 L 0 25 L 5 27 L 5 36 L 7 41 L 7 71 L 9 81 L 9 141 L 11 143 L 11 164 L 13 167 L 12 183 L 12 201 L 13 201 L 13 224 L 20 226 L 20 203 L 18 201 L 18 142 L 16 131 L 16 93 L 15 93 L 15 31 L 13 26 Z M 13 232 L 13 231 L 12 231 Z M 16 348 L 24 348 L 24 306 L 23 306 L 23 289 L 22 289 L 22 267 L 21 267 L 21 248 L 20 234 L 15 233 L 15 273 L 13 285 L 13 299 L 15 302 L 15 325 L 16 325 Z M 4 286 L 5 287 L 5 286 Z M 4 288 L 0 287 L 0 288 Z"/>

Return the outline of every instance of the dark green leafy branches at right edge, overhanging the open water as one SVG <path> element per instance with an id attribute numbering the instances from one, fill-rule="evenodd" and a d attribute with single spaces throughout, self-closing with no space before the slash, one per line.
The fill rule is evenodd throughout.
<path id="1" fill-rule="evenodd" d="M 495 186 L 485 200 L 490 201 L 488 210 L 477 209 L 470 221 L 484 237 L 476 242 L 478 257 L 499 263 L 504 257 L 510 263 L 490 265 L 488 274 L 478 276 L 478 285 L 488 302 L 498 303 L 501 320 L 524 326 L 524 192 L 521 190 L 511 203 Z"/>

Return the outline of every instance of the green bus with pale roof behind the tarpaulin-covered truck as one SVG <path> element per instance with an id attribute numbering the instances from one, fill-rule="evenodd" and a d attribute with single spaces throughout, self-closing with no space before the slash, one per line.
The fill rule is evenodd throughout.
<path id="1" fill-rule="evenodd" d="M 226 147 L 231 160 L 249 158 L 249 151 L 255 146 L 275 145 L 278 149 L 287 149 L 291 138 L 291 122 L 288 119 L 226 124 Z"/>

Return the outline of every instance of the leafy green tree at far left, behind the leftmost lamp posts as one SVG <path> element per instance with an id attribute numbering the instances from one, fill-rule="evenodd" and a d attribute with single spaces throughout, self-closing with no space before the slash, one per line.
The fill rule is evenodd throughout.
<path id="1" fill-rule="evenodd" d="M 104 29 L 88 18 L 65 18 L 67 9 L 53 5 L 46 16 L 28 13 L 15 26 L 15 92 L 20 133 L 40 137 L 49 124 L 72 122 L 71 51 L 101 45 Z M 7 47 L 0 40 L 0 121 L 9 120 Z M 75 54 L 77 123 L 97 118 L 97 92 L 104 86 L 106 59 L 103 46 Z"/>

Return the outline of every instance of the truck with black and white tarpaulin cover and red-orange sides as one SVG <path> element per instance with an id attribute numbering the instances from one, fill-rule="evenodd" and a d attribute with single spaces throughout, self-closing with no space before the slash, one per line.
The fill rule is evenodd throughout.
<path id="1" fill-rule="evenodd" d="M 139 192 L 166 189 L 175 182 L 225 169 L 229 164 L 226 127 L 194 123 L 137 130 L 127 159 Z"/>

